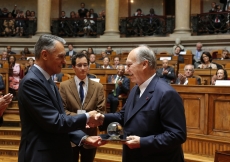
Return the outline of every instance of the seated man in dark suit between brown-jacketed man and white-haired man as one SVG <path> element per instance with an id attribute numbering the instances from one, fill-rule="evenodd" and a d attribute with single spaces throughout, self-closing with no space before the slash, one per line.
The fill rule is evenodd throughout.
<path id="1" fill-rule="evenodd" d="M 130 87 L 130 80 L 125 74 L 125 67 L 119 65 L 117 69 L 117 75 L 112 75 L 108 78 L 108 83 L 114 83 L 115 89 L 112 93 L 108 95 L 107 102 L 110 103 L 110 113 L 117 111 L 119 104 L 118 96 L 121 94 L 128 94 Z"/>

